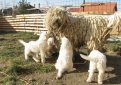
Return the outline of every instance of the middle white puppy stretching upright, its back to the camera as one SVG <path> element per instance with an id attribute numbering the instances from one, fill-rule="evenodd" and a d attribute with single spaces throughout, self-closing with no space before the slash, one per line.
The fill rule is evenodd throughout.
<path id="1" fill-rule="evenodd" d="M 59 57 L 56 61 L 55 68 L 58 70 L 56 79 L 62 77 L 62 73 L 73 69 L 73 49 L 70 41 L 66 37 L 61 38 L 61 47 Z"/>

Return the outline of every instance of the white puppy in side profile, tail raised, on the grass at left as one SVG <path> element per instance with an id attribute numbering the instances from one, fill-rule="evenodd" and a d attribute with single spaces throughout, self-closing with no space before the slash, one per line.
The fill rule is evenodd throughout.
<path id="1" fill-rule="evenodd" d="M 42 32 L 40 34 L 40 37 L 36 41 L 30 41 L 28 43 L 24 42 L 23 40 L 19 40 L 21 44 L 25 46 L 24 49 L 24 54 L 25 54 L 25 59 L 28 60 L 29 54 L 33 53 L 35 56 L 32 58 L 36 62 L 40 62 L 39 55 L 41 56 L 41 62 L 45 63 L 45 58 L 47 57 L 46 51 L 47 51 L 47 33 Z"/>

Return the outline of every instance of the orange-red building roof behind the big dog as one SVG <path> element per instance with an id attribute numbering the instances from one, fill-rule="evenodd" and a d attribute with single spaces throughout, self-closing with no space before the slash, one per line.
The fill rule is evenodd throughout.
<path id="1" fill-rule="evenodd" d="M 81 4 L 81 7 L 78 8 L 70 8 L 68 9 L 70 12 L 114 12 L 117 11 L 117 3 L 116 2 L 85 2 L 85 4 Z"/>

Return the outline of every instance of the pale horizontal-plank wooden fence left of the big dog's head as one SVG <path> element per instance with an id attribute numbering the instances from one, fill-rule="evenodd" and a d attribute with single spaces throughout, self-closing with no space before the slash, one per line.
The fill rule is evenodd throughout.
<path id="1" fill-rule="evenodd" d="M 0 17 L 0 31 L 46 31 L 45 14 L 26 14 Z"/>

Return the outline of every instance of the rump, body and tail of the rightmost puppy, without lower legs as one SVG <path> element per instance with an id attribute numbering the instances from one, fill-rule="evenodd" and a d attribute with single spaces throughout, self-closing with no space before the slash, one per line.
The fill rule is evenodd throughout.
<path id="1" fill-rule="evenodd" d="M 98 50 L 93 50 L 89 56 L 80 54 L 83 59 L 90 61 L 90 68 L 97 68 L 99 71 L 104 72 L 106 69 L 106 56 Z"/>

